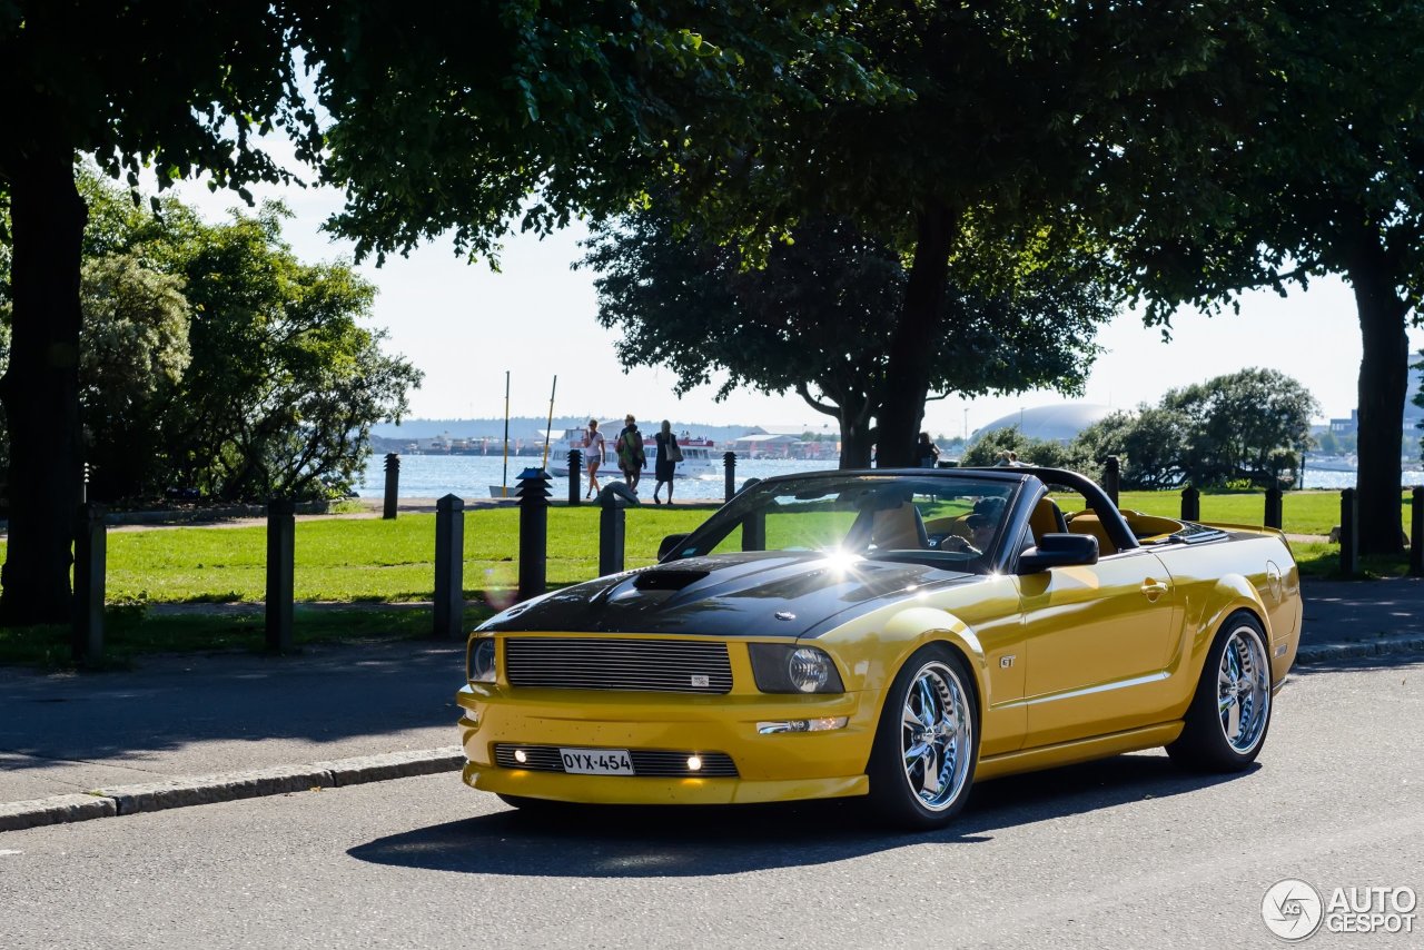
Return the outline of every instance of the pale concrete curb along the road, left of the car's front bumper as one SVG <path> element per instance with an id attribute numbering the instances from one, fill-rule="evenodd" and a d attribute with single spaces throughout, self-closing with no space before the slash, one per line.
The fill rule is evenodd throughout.
<path id="1" fill-rule="evenodd" d="M 88 795 L 54 795 L 30 802 L 0 803 L 0 832 L 40 825 L 87 822 L 94 818 L 159 812 L 189 805 L 235 802 L 318 788 L 342 788 L 416 775 L 454 772 L 464 765 L 459 746 L 363 755 L 352 759 L 276 766 L 251 772 L 169 779 L 97 789 Z"/>

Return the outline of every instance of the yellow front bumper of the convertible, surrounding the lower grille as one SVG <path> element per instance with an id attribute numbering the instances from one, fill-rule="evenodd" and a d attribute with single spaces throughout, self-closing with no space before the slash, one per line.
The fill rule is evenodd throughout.
<path id="1" fill-rule="evenodd" d="M 877 704 L 866 694 L 718 696 L 466 685 L 467 785 L 504 795 L 622 805 L 721 805 L 864 795 Z M 762 735 L 759 722 L 844 716 L 822 732 Z M 496 743 L 722 752 L 736 778 L 568 775 L 501 768 Z"/>

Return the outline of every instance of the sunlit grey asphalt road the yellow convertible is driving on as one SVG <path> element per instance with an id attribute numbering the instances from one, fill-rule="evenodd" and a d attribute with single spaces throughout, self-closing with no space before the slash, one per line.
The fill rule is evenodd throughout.
<path id="1" fill-rule="evenodd" d="M 1119 756 L 924 836 L 837 803 L 531 820 L 444 775 L 37 828 L 0 835 L 0 947 L 1279 947 L 1280 879 L 1424 890 L 1421 724 L 1424 664 L 1306 672 L 1245 775 Z"/>

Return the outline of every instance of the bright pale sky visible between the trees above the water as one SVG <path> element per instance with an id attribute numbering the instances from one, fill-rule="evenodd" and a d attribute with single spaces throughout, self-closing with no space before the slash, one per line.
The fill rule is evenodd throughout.
<path id="1" fill-rule="evenodd" d="M 253 195 L 282 198 L 295 212 L 285 238 L 306 262 L 350 259 L 352 245 L 332 241 L 320 224 L 340 207 L 333 189 L 255 187 Z M 185 182 L 178 194 L 211 221 L 241 207 L 232 192 L 209 192 Z M 359 271 L 376 283 L 373 326 L 389 333 L 386 348 L 424 370 L 410 396 L 412 419 L 500 417 L 504 373 L 510 373 L 510 414 L 544 416 L 558 376 L 554 414 L 618 420 L 674 419 L 685 423 L 796 426 L 834 432 L 830 416 L 796 395 L 766 396 L 742 390 L 713 402 L 715 386 L 681 400 L 666 369 L 618 363 L 618 335 L 598 326 L 594 273 L 572 271 L 581 256 L 581 225 L 544 238 L 518 235 L 506 242 L 500 272 L 454 254 L 449 239 Z M 1303 383 L 1320 402 L 1317 422 L 1349 416 L 1356 406 L 1360 328 L 1350 288 L 1334 278 L 1312 282 L 1280 298 L 1253 292 L 1240 313 L 1208 318 L 1190 310 L 1173 318 L 1172 340 L 1124 312 L 1098 335 L 1104 348 L 1088 377 L 1082 402 L 1115 409 L 1156 403 L 1168 389 L 1203 382 L 1250 366 L 1277 369 Z M 1410 336 L 1413 352 L 1424 333 Z M 944 399 L 926 407 L 923 429 L 944 437 L 975 429 L 1021 409 L 1068 399 L 1051 390 L 974 400 Z M 459 434 L 459 433 L 454 433 Z"/>

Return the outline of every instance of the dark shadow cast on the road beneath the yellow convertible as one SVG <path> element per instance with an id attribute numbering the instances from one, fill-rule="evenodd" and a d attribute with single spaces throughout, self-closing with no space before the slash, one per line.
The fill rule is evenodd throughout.
<path id="1" fill-rule="evenodd" d="M 984 782 L 950 828 L 913 835 L 876 825 L 860 799 L 719 808 L 557 806 L 412 829 L 347 853 L 377 865 L 471 875 L 735 875 L 823 865 L 916 845 L 985 843 L 994 832 L 1017 825 L 1249 781 L 1250 772 L 1193 775 L 1165 755 L 1121 755 Z"/>

